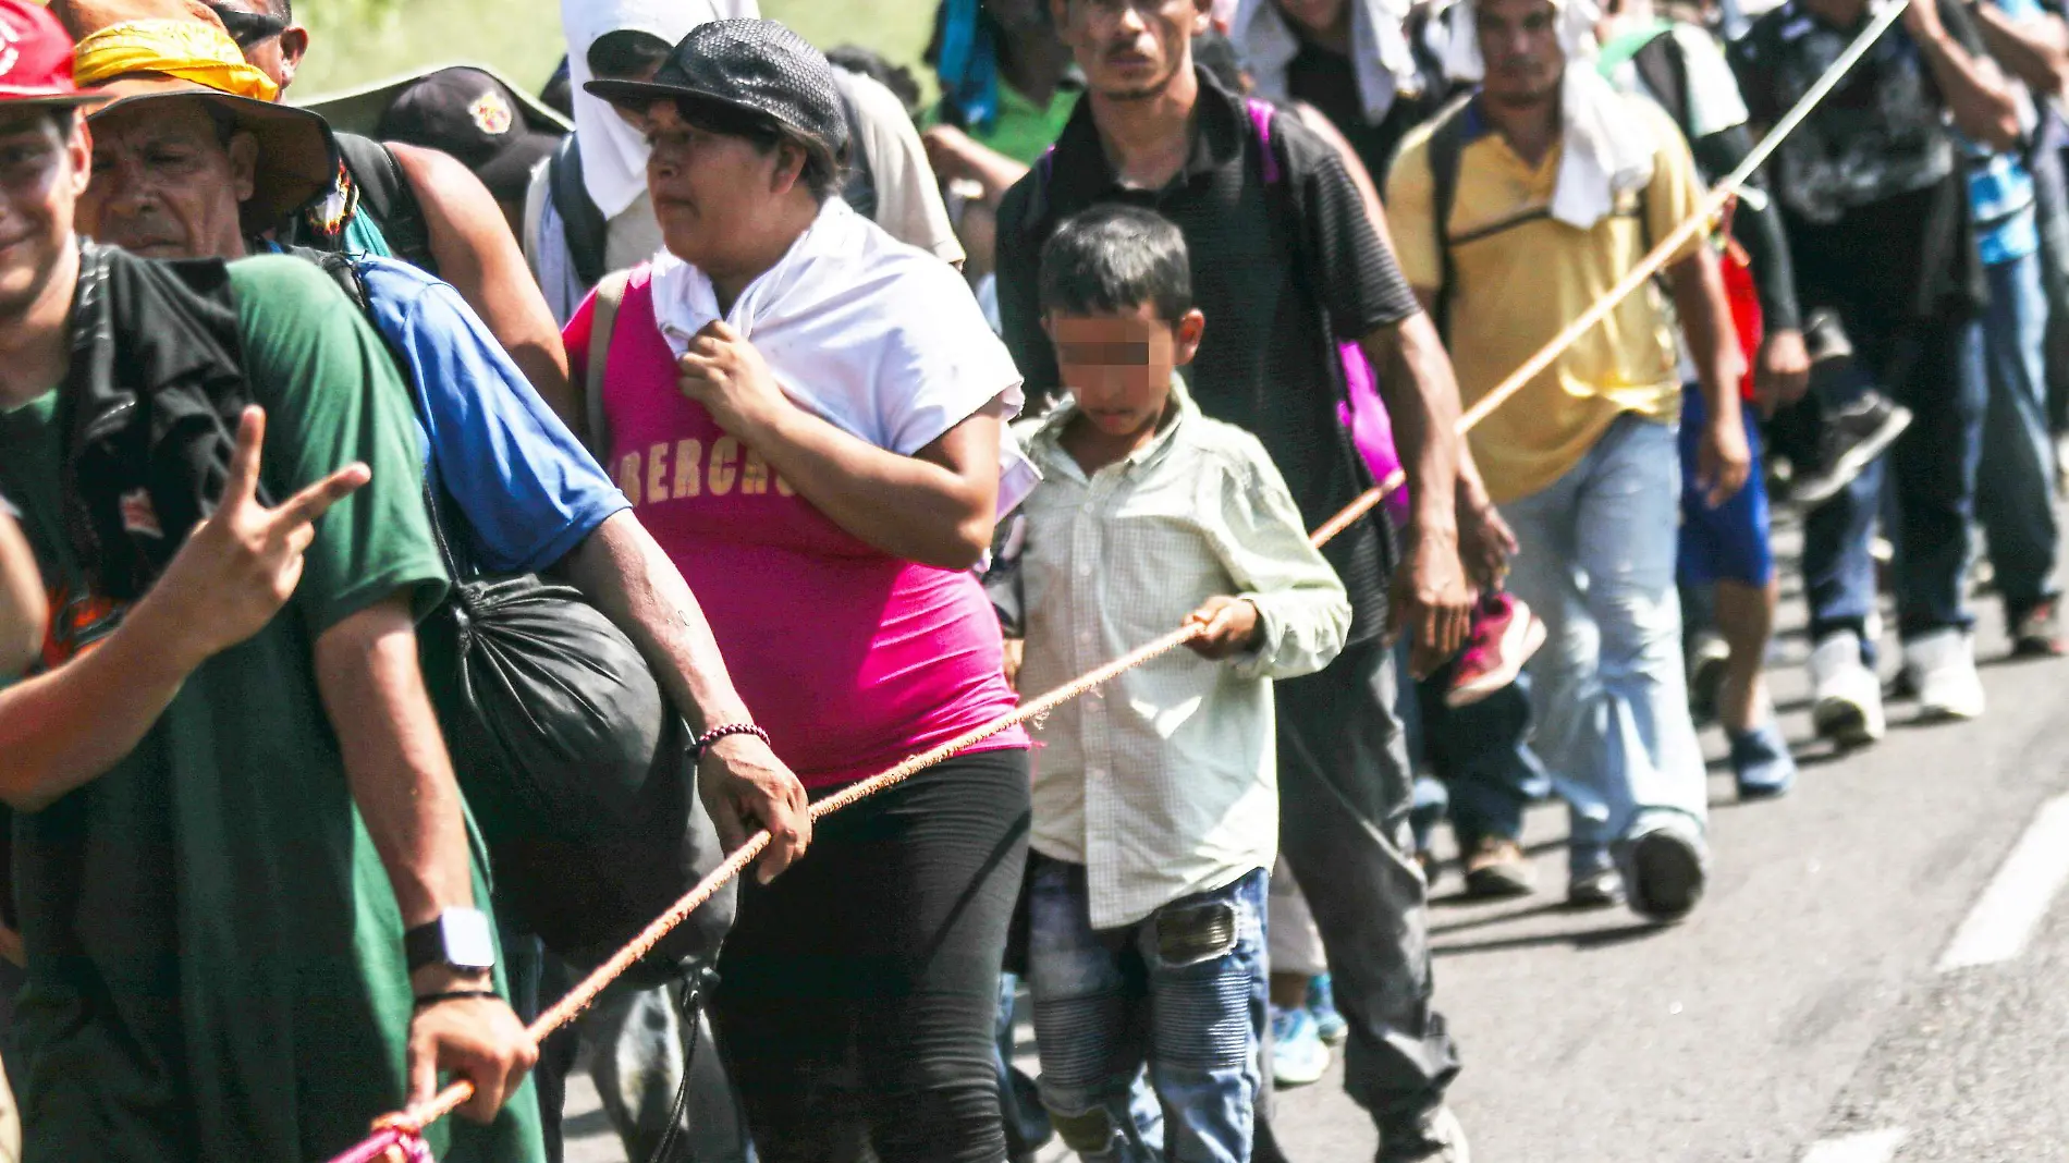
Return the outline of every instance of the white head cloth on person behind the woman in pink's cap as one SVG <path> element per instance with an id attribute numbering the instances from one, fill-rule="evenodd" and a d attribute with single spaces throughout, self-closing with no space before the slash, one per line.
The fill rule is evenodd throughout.
<path id="1" fill-rule="evenodd" d="M 646 192 L 646 139 L 602 97 L 581 91 L 592 81 L 590 46 L 606 33 L 652 33 L 670 46 L 697 25 L 759 17 L 755 0 L 561 0 L 567 35 L 567 81 L 581 141 L 581 184 L 604 217 L 625 213 Z"/>

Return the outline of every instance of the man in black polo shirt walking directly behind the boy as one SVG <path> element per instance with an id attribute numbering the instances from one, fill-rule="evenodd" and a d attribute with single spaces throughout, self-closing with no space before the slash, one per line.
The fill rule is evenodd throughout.
<path id="1" fill-rule="evenodd" d="M 999 310 L 1028 389 L 1059 387 L 1037 306 L 1049 232 L 1095 203 L 1157 209 L 1186 234 L 1208 319 L 1194 399 L 1264 441 L 1310 528 L 1370 484 L 1337 420 L 1337 346 L 1357 344 L 1382 370 L 1413 495 L 1392 615 L 1417 668 L 1442 660 L 1469 610 L 1459 548 L 1492 571 L 1506 530 L 1477 476 L 1461 482 L 1450 364 L 1341 161 L 1295 118 L 1270 120 L 1266 147 L 1243 101 L 1194 68 L 1208 0 L 1051 4 L 1086 99 L 999 207 Z M 1430 1008 L 1428 890 L 1399 848 L 1409 766 L 1382 644 L 1386 532 L 1368 517 L 1326 553 L 1357 621 L 1332 666 L 1279 683 L 1281 846 L 1328 948 L 1351 1022 L 1345 1084 L 1380 1128 L 1380 1159 L 1463 1159 L 1442 1105 L 1459 1060 Z M 1275 1157 L 1260 1132 L 1258 1159 Z"/>

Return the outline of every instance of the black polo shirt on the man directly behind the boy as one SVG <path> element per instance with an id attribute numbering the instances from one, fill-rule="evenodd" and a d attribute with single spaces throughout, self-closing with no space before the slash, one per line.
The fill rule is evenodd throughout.
<path id="1" fill-rule="evenodd" d="M 1041 329 L 1043 242 L 1097 203 L 1169 217 L 1186 234 L 1192 294 L 1206 315 L 1200 354 L 1186 368 L 1192 397 L 1208 416 L 1256 433 L 1314 528 L 1372 486 L 1337 414 L 1345 391 L 1337 344 L 1419 306 L 1337 153 L 1293 116 L 1272 118 L 1272 153 L 1279 180 L 1266 186 L 1243 99 L 1200 72 L 1186 168 L 1161 190 L 1130 190 L 1099 143 L 1092 101 L 1078 101 L 1055 153 L 999 207 L 999 317 L 1030 397 L 1055 391 L 1055 352 Z M 1351 592 L 1353 642 L 1378 633 L 1392 557 L 1384 521 L 1359 521 L 1326 557 Z"/>

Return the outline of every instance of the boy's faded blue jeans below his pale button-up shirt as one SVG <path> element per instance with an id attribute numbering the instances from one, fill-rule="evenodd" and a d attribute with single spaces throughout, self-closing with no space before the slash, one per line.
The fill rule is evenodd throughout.
<path id="1" fill-rule="evenodd" d="M 1146 1060 L 1163 1159 L 1248 1163 L 1266 1022 L 1264 869 L 1095 931 L 1084 865 L 1028 861 L 1041 1097 L 1063 1144 L 1088 1163 L 1159 1159 L 1128 1111 Z"/>

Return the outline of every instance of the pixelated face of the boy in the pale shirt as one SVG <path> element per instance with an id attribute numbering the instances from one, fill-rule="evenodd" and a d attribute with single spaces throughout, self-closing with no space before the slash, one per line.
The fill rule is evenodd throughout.
<path id="1" fill-rule="evenodd" d="M 1078 412 L 1101 437 L 1134 449 L 1157 433 L 1171 401 L 1171 372 L 1200 350 L 1206 317 L 1188 310 L 1171 323 L 1144 302 L 1130 312 L 1049 312 L 1047 327 Z"/>

